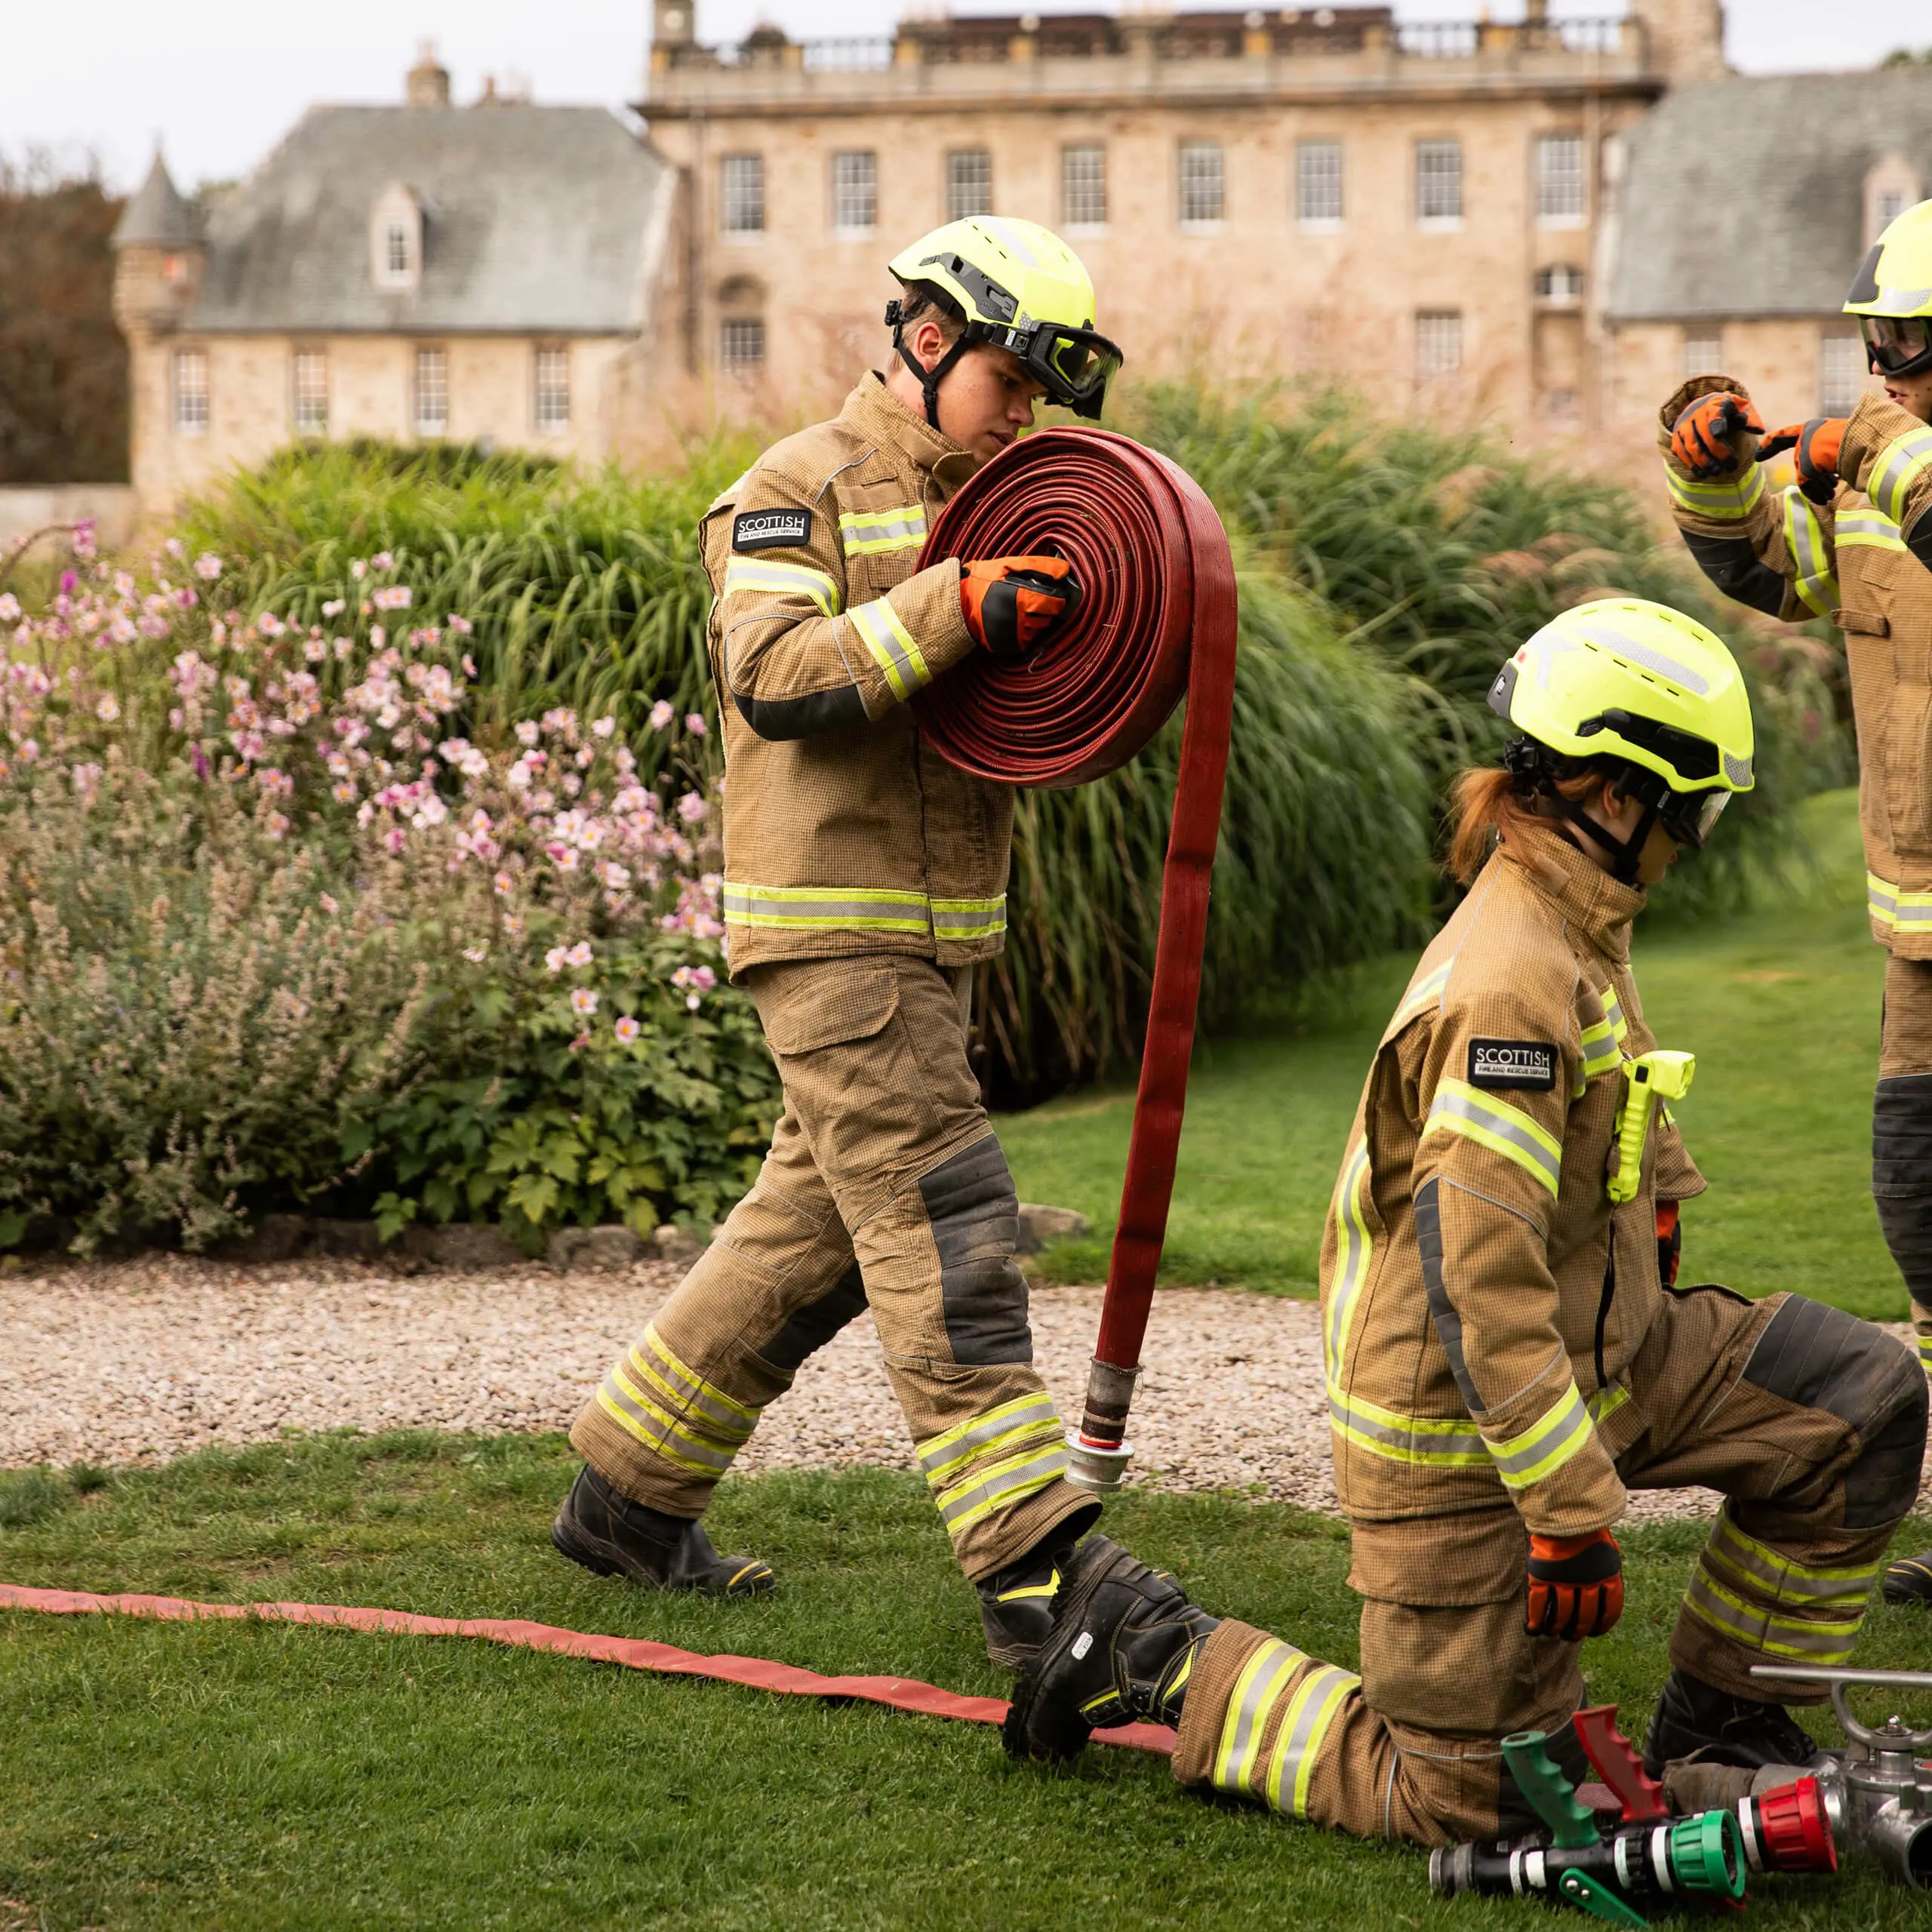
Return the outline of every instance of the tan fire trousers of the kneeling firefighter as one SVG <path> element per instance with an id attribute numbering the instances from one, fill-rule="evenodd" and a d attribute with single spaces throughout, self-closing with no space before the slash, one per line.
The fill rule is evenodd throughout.
<path id="1" fill-rule="evenodd" d="M 1692 1289 L 1665 1296 L 1631 1399 L 1648 1426 L 1619 1459 L 1625 1482 L 1727 1497 L 1671 1662 L 1770 1696 L 1752 1663 L 1849 1658 L 1918 1493 L 1926 1387 L 1911 1352 L 1797 1294 L 1752 1304 Z M 1362 1837 L 1443 1845 L 1526 1830 L 1501 1739 L 1548 1731 L 1561 1762 L 1582 1702 L 1582 1646 L 1522 1629 L 1526 1557 L 1515 1509 L 1356 1522 L 1360 1677 L 1223 1623 L 1194 1665 L 1175 1777 Z"/>

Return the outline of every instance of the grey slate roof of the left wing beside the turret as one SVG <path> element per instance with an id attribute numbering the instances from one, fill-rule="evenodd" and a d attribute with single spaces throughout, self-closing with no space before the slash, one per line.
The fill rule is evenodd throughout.
<path id="1" fill-rule="evenodd" d="M 421 280 L 404 292 L 369 274 L 371 211 L 396 182 L 425 207 Z M 643 323 L 668 191 L 663 162 L 605 108 L 311 108 L 211 211 L 185 325 L 626 334 Z"/>

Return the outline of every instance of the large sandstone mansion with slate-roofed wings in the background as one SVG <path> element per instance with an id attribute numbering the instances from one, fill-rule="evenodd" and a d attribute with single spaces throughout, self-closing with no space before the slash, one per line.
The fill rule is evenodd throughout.
<path id="1" fill-rule="evenodd" d="M 313 108 L 209 207 L 156 160 L 116 236 L 135 487 L 160 508 L 290 437 L 599 460 L 800 419 L 879 363 L 885 259 L 995 211 L 1080 249 L 1130 375 L 1329 375 L 1633 458 L 1685 367 L 1783 417 L 1855 392 L 1837 305 L 1932 182 L 1932 70 L 1741 79 L 1718 0 L 1522 12 L 715 44 L 653 0 L 639 129 L 452 106 L 425 54 L 404 104 Z"/>

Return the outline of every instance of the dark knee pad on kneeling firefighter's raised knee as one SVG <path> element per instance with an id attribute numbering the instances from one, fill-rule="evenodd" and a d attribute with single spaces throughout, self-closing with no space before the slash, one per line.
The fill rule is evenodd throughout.
<path id="1" fill-rule="evenodd" d="M 1745 1381 L 1859 1432 L 1859 1461 L 1845 1472 L 1847 1530 L 1895 1522 L 1913 1507 L 1926 1378 L 1903 1343 L 1843 1308 L 1789 1294 L 1750 1350 Z"/>

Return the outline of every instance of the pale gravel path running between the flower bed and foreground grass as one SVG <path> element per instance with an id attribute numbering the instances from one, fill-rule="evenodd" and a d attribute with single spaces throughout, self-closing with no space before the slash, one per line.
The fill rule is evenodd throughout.
<path id="1" fill-rule="evenodd" d="M 678 1279 L 531 1269 L 398 1277 L 359 1264 L 236 1267 L 184 1258 L 0 1277 L 0 1468 L 151 1463 L 282 1430 L 562 1430 Z M 1034 1345 L 1078 1408 L 1099 1289 L 1039 1289 Z M 1901 1329 L 1903 1333 L 1903 1329 Z M 1155 1296 L 1134 1405 L 1136 1478 L 1333 1509 L 1312 1302 L 1215 1289 Z M 744 1470 L 912 1459 L 871 1321 L 802 1370 Z M 1671 1490 L 1633 1515 L 1706 1515 Z"/>

